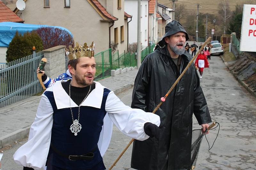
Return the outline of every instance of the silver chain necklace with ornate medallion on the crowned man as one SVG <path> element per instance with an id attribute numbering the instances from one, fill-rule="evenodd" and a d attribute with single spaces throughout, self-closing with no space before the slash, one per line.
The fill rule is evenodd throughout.
<path id="1" fill-rule="evenodd" d="M 72 81 L 72 80 L 71 80 Z M 84 102 L 84 100 L 87 98 L 89 92 L 91 91 L 91 87 L 92 85 L 90 85 L 90 89 L 89 89 L 89 92 L 87 93 L 87 95 L 85 96 L 84 100 L 80 103 L 79 107 L 78 107 L 78 120 L 74 120 L 74 117 L 73 117 L 73 112 L 72 112 L 72 108 L 71 108 L 71 97 L 70 97 L 70 86 L 71 86 L 71 81 L 70 81 L 70 84 L 69 84 L 69 106 L 70 106 L 70 112 L 71 112 L 71 116 L 72 116 L 72 121 L 73 123 L 71 124 L 70 126 L 70 130 L 72 133 L 75 133 L 74 135 L 76 136 L 78 132 L 80 132 L 80 130 L 82 129 L 82 125 L 79 123 L 79 116 L 80 116 L 80 106 L 81 104 Z"/>

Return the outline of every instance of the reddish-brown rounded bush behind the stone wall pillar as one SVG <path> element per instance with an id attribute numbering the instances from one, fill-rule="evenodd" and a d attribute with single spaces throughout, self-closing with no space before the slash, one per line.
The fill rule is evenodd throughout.
<path id="1" fill-rule="evenodd" d="M 44 49 L 65 45 L 74 47 L 74 39 L 66 30 L 55 27 L 41 27 L 35 30 L 43 41 Z"/>

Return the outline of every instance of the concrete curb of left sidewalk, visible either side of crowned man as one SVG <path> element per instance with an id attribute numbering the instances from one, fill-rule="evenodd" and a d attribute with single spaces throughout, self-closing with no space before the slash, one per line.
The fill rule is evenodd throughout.
<path id="1" fill-rule="evenodd" d="M 118 93 L 123 92 L 132 87 L 133 87 L 133 84 L 126 84 L 126 85 L 123 85 L 123 86 L 119 87 L 118 89 L 114 90 L 113 92 L 115 94 L 118 94 Z M 0 137 L 0 149 L 5 146 L 11 145 L 18 140 L 28 137 L 29 130 L 30 130 L 30 126 L 27 128 L 22 128 L 22 129 L 16 130 L 12 133 L 9 133 L 8 135 Z"/>

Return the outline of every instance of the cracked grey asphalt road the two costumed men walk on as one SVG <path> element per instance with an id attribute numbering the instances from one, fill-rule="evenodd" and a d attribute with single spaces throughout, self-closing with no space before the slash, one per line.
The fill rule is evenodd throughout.
<path id="1" fill-rule="evenodd" d="M 220 133 L 208 151 L 208 144 L 203 139 L 196 169 L 209 170 L 253 170 L 256 169 L 256 99 L 242 87 L 225 68 L 219 56 L 209 60 L 210 68 L 204 69 L 201 87 L 204 91 L 213 121 L 220 123 Z M 118 94 L 128 106 L 131 105 L 132 89 Z M 167 98 L 168 100 L 168 98 Z M 200 128 L 194 118 L 194 129 Z M 211 130 L 207 139 L 212 145 L 218 129 Z M 27 139 L 26 139 L 27 140 Z M 0 150 L 4 152 L 3 170 L 19 170 L 22 167 L 12 160 L 13 153 L 26 140 Z M 122 152 L 130 137 L 124 136 L 115 126 L 106 154 L 103 157 L 107 169 Z M 116 170 L 131 170 L 132 145 L 119 160 Z"/>

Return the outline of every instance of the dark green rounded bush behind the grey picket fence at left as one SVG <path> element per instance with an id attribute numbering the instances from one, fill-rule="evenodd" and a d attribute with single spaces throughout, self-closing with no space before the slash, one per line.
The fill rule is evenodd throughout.
<path id="1" fill-rule="evenodd" d="M 27 32 L 21 35 L 16 31 L 15 36 L 7 48 L 6 61 L 11 62 L 31 55 L 33 53 L 33 46 L 36 47 L 37 52 L 43 49 L 43 42 L 36 32 Z"/>

